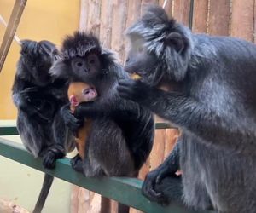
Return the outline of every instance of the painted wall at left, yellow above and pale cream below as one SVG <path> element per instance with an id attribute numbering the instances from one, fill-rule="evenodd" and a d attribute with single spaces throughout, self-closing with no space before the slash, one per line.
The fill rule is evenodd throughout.
<path id="1" fill-rule="evenodd" d="M 15 0 L 0 0 L 0 14 L 7 21 L 14 3 Z M 48 39 L 59 45 L 66 34 L 79 28 L 79 8 L 79 0 L 28 0 L 17 35 L 20 39 Z M 4 31 L 5 27 L 0 24 L 0 43 Z M 0 124 L 3 119 L 16 118 L 11 87 L 19 51 L 20 46 L 13 41 L 0 73 Z M 15 137 L 15 141 L 20 141 L 19 136 Z M 3 157 L 0 157 L 0 168 L 4 171 L 0 173 L 0 199 L 11 200 L 32 211 L 44 174 Z M 56 179 L 43 212 L 70 212 L 70 191 L 71 184 Z"/>

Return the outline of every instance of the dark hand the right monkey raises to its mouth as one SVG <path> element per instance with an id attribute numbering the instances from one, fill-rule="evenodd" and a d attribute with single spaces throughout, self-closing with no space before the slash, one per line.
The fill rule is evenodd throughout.
<path id="1" fill-rule="evenodd" d="M 119 81 L 117 90 L 121 98 L 142 103 L 148 98 L 153 88 L 139 80 L 123 79 Z"/>

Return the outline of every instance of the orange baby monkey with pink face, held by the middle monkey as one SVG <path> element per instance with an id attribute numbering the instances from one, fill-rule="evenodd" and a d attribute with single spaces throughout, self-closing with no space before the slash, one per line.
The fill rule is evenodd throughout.
<path id="1" fill-rule="evenodd" d="M 74 82 L 70 83 L 67 90 L 68 99 L 70 101 L 70 110 L 74 112 L 75 108 L 79 106 L 79 103 L 95 101 L 97 92 L 93 86 L 87 83 Z M 86 119 L 84 125 L 79 128 L 76 133 L 76 143 L 79 150 L 79 156 L 84 159 L 85 144 L 88 135 L 90 134 L 91 120 Z"/>

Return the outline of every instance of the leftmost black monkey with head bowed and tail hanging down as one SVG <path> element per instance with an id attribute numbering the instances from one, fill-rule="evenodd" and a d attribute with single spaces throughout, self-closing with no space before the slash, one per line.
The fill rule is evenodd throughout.
<path id="1" fill-rule="evenodd" d="M 21 141 L 35 158 L 43 158 L 46 169 L 54 168 L 55 160 L 63 158 L 75 146 L 73 134 L 60 114 L 62 105 L 68 102 L 67 85 L 49 74 L 57 55 L 55 44 L 49 41 L 22 41 L 12 88 Z M 53 179 L 45 173 L 34 213 L 43 209 Z"/>

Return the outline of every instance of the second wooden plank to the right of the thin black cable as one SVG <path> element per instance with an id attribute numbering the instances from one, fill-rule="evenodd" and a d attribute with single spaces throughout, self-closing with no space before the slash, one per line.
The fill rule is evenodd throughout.
<path id="1" fill-rule="evenodd" d="M 230 25 L 230 0 L 209 2 L 208 33 L 228 36 Z"/>

